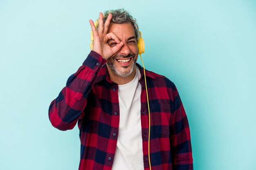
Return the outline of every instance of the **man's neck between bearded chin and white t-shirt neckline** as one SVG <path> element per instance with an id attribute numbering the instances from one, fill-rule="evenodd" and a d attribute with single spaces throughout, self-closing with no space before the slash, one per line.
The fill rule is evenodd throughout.
<path id="1" fill-rule="evenodd" d="M 121 76 L 118 76 L 117 74 L 115 74 L 114 72 L 112 72 L 112 70 L 110 70 L 110 68 L 108 67 L 107 65 L 107 68 L 108 68 L 108 72 L 109 72 L 109 76 L 110 76 L 110 80 L 112 82 L 115 82 L 117 83 L 118 85 L 124 85 L 126 83 L 129 83 L 130 81 L 133 80 L 133 78 L 135 77 L 136 75 L 136 67 L 133 68 L 132 70 L 132 73 L 126 77 L 121 77 Z"/>

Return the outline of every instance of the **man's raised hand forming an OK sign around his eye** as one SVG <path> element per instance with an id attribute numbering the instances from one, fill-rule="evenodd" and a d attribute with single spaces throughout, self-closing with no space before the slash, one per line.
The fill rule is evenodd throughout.
<path id="1" fill-rule="evenodd" d="M 113 54 L 115 54 L 121 47 L 124 45 L 124 42 L 120 41 L 117 35 L 114 33 L 107 33 L 108 26 L 112 19 L 112 14 L 108 15 L 106 22 L 103 24 L 103 14 L 99 13 L 99 26 L 98 31 L 94 26 L 94 22 L 89 20 L 91 28 L 92 28 L 92 35 L 93 35 L 93 48 L 92 50 L 97 52 L 101 55 L 103 59 L 108 59 Z M 115 46 L 109 46 L 108 40 L 113 39 L 117 44 Z"/>

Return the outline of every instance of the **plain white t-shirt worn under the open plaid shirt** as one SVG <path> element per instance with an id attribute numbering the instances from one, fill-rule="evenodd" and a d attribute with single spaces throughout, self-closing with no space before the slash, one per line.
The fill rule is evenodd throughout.
<path id="1" fill-rule="evenodd" d="M 120 108 L 119 132 L 112 170 L 144 170 L 141 137 L 140 72 L 132 81 L 118 85 Z"/>

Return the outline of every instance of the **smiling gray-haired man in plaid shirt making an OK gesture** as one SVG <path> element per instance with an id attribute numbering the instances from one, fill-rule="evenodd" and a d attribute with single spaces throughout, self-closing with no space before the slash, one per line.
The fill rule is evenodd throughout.
<path id="1" fill-rule="evenodd" d="M 118 9 L 100 13 L 97 28 L 90 25 L 92 51 L 49 107 L 57 129 L 78 121 L 79 170 L 192 170 L 189 124 L 175 85 L 136 63 L 136 20 Z"/>

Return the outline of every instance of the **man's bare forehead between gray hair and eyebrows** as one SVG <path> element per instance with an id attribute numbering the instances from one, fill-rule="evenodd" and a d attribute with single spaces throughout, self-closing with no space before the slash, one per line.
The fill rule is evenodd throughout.
<path id="1" fill-rule="evenodd" d="M 114 33 L 119 38 L 135 37 L 135 31 L 131 23 L 110 23 L 108 33 Z"/>

